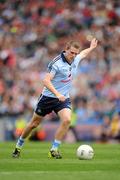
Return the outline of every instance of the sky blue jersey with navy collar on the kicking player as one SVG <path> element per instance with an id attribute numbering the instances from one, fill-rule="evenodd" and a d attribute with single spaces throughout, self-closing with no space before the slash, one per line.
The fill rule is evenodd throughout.
<path id="1" fill-rule="evenodd" d="M 77 55 L 70 64 L 67 62 L 64 53 L 62 52 L 48 64 L 48 72 L 54 75 L 51 81 L 53 86 L 66 98 L 69 98 L 69 93 L 72 87 L 72 79 L 77 73 L 77 67 L 80 61 L 81 57 L 80 55 Z M 48 97 L 56 97 L 46 87 L 44 87 L 42 94 Z"/>

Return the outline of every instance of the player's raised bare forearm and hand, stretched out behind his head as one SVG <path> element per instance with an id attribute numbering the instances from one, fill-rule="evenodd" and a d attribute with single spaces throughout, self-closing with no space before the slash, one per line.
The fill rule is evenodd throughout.
<path id="1" fill-rule="evenodd" d="M 98 44 L 98 40 L 96 38 L 92 39 L 90 43 L 90 47 L 80 52 L 79 55 L 81 59 L 85 58 L 92 50 L 94 50 L 97 47 L 97 44 Z"/>

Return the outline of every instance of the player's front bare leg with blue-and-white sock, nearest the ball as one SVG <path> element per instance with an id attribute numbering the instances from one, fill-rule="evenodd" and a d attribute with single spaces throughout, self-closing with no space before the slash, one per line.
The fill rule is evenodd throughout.
<path id="1" fill-rule="evenodd" d="M 58 116 L 61 119 L 60 126 L 58 127 L 55 133 L 55 140 L 52 143 L 51 150 L 48 154 L 48 157 L 54 157 L 56 159 L 61 159 L 62 156 L 58 151 L 58 148 L 63 140 L 64 136 L 66 135 L 70 122 L 71 122 L 71 110 L 69 108 L 64 108 L 58 112 Z"/>

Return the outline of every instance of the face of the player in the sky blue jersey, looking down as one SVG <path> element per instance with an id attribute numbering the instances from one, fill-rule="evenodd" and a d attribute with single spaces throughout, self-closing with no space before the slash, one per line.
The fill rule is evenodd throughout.
<path id="1" fill-rule="evenodd" d="M 71 46 L 70 49 L 66 50 L 66 57 L 69 61 L 72 61 L 79 54 L 79 49 Z"/>

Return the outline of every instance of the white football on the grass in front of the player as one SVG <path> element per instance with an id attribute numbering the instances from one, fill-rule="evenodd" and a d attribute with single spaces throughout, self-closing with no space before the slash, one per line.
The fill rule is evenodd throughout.
<path id="1" fill-rule="evenodd" d="M 79 159 L 90 160 L 94 156 L 94 150 L 90 145 L 81 145 L 77 149 L 77 157 Z"/>

